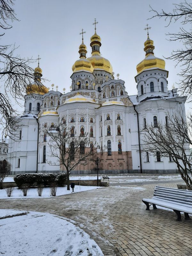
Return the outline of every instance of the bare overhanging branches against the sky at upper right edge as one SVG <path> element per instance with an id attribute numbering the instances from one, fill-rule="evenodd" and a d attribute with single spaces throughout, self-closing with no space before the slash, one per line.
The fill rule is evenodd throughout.
<path id="1" fill-rule="evenodd" d="M 168 33 L 169 41 L 180 41 L 182 46 L 180 49 L 173 50 L 171 56 L 166 59 L 174 60 L 176 65 L 180 65 L 181 71 L 178 74 L 180 79 L 180 91 L 185 95 L 192 95 L 192 35 L 191 35 L 191 25 L 192 25 L 192 3 L 187 3 L 184 1 L 180 4 L 173 4 L 174 8 L 172 12 L 166 12 L 162 10 L 158 12 L 154 10 L 151 6 L 150 12 L 154 12 L 154 15 L 150 18 L 164 18 L 167 21 L 167 26 L 171 22 L 180 22 L 182 27 L 177 33 Z M 192 100 L 190 100 L 192 101 Z"/>

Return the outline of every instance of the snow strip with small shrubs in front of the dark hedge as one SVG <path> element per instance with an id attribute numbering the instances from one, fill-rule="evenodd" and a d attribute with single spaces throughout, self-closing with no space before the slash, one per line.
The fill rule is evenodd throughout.
<path id="1" fill-rule="evenodd" d="M 74 192 L 73 193 L 87 191 L 87 190 L 92 190 L 92 189 L 97 189 L 97 188 L 101 188 L 101 187 L 77 186 L 76 185 L 75 188 L 74 188 Z M 67 195 L 67 194 L 71 194 L 71 193 L 72 193 L 72 189 L 70 188 L 70 190 L 67 190 L 67 186 L 66 187 L 57 187 L 56 196 L 62 196 L 62 195 Z M 30 188 L 28 190 L 27 196 L 23 196 L 23 192 L 21 191 L 21 189 L 14 188 L 11 197 L 7 196 L 5 189 L 0 189 L 0 199 L 42 198 L 42 197 L 51 197 L 50 196 L 50 188 L 44 188 L 42 196 L 38 196 L 36 188 Z"/>

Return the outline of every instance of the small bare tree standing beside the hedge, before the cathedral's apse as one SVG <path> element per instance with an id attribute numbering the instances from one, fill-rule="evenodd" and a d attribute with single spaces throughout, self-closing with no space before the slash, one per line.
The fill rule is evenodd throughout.
<path id="1" fill-rule="evenodd" d="M 69 130 L 66 124 L 59 123 L 56 128 L 42 129 L 50 149 L 50 157 L 56 157 L 57 161 L 47 161 L 50 165 L 64 166 L 67 172 L 67 190 L 70 190 L 69 175 L 77 165 L 86 165 L 87 161 L 95 158 L 95 152 L 99 148 L 90 140 L 89 134 L 81 132 L 76 134 L 74 128 Z"/>

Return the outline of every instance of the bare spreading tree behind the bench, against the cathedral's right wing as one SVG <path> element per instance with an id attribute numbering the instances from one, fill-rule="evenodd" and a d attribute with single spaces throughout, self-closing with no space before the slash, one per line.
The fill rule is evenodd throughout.
<path id="1" fill-rule="evenodd" d="M 192 190 L 192 115 L 188 121 L 182 113 L 167 116 L 165 124 L 158 122 L 156 127 L 147 124 L 141 135 L 142 151 L 154 157 L 170 157 L 188 189 Z"/>

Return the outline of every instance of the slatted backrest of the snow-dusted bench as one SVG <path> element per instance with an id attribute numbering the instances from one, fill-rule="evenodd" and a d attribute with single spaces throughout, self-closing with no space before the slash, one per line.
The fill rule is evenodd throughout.
<path id="1" fill-rule="evenodd" d="M 177 189 L 177 188 L 165 188 L 156 186 L 154 190 L 154 199 L 167 200 L 170 203 L 181 203 L 192 206 L 192 191 Z"/>

